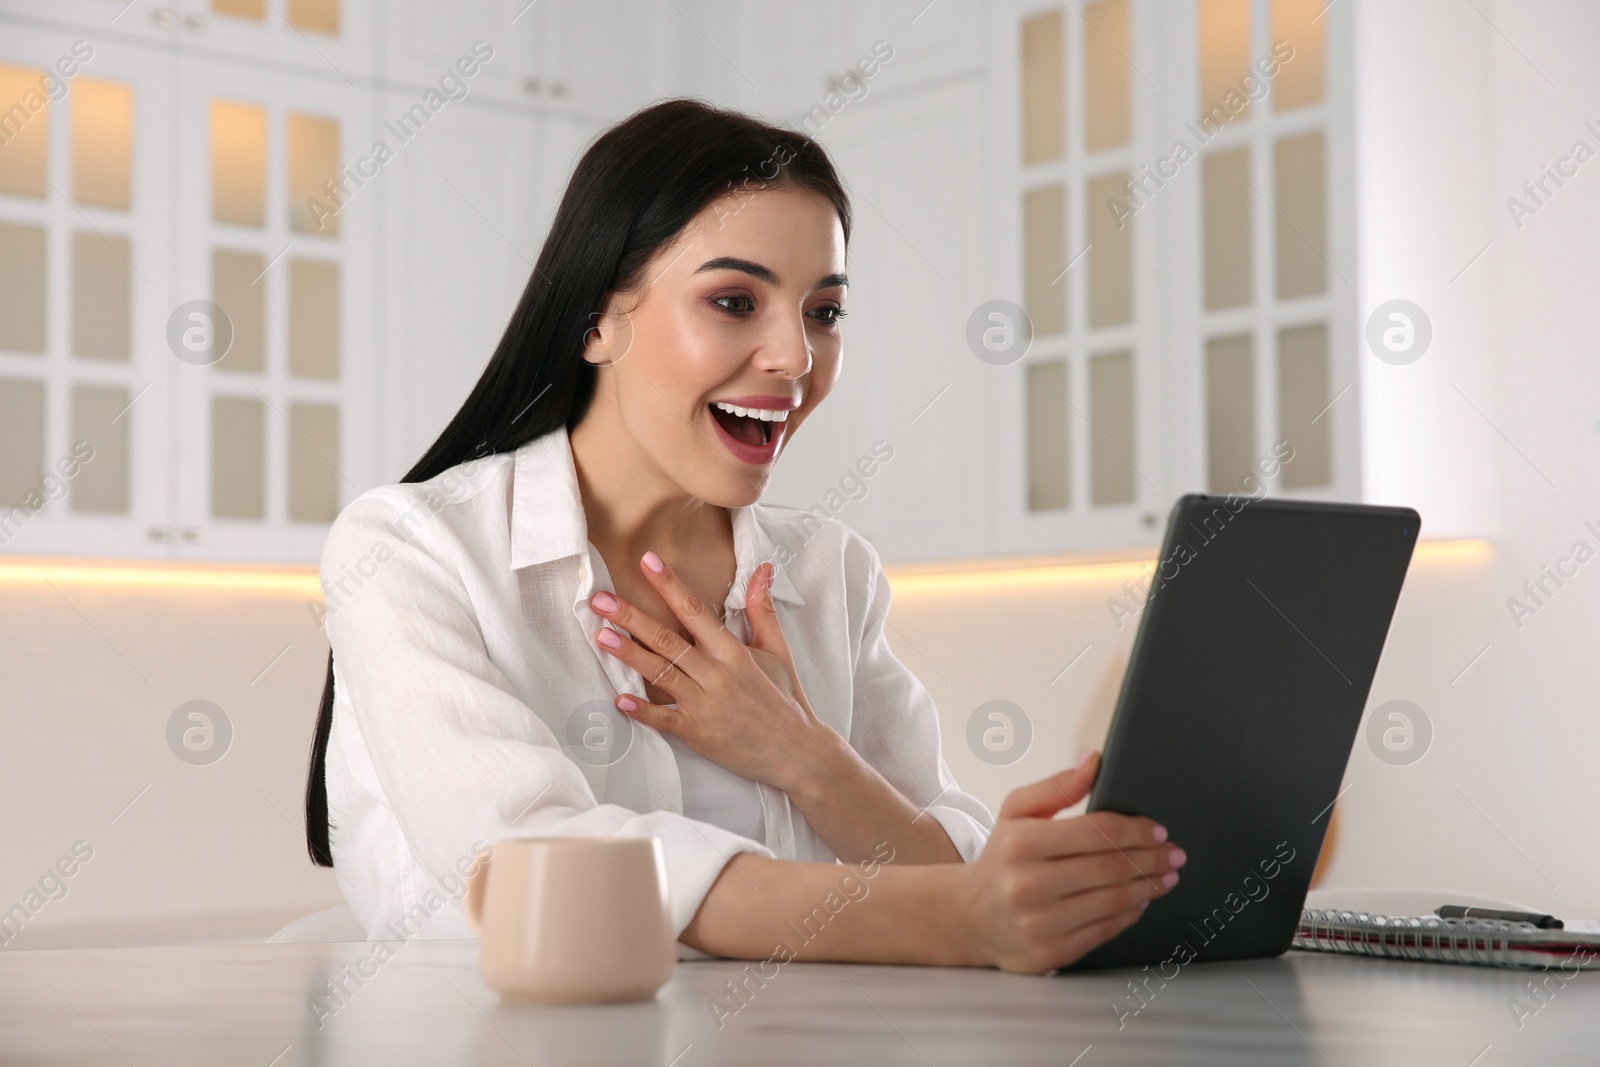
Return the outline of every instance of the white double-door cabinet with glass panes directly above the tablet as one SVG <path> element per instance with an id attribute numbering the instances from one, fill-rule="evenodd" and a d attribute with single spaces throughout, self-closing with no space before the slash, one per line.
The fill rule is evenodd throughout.
<path id="1" fill-rule="evenodd" d="M 1302 0 L 1014 8 L 994 232 L 1035 336 L 997 549 L 1149 544 L 1189 491 L 1360 499 L 1347 40 Z"/>

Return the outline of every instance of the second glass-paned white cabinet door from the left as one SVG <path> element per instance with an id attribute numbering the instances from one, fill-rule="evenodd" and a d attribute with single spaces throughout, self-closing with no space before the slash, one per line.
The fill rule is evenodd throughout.
<path id="1" fill-rule="evenodd" d="M 370 98 L 194 56 L 176 82 L 181 550 L 315 561 L 371 485 Z"/>

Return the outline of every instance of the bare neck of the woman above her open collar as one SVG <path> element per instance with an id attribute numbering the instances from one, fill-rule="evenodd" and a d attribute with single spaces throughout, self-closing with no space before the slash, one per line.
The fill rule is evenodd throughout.
<path id="1" fill-rule="evenodd" d="M 731 536 L 728 510 L 685 493 L 626 429 L 608 430 L 586 418 L 568 440 L 589 541 L 602 557 L 637 563 L 654 550 L 667 561 L 682 561 L 694 545 Z"/>

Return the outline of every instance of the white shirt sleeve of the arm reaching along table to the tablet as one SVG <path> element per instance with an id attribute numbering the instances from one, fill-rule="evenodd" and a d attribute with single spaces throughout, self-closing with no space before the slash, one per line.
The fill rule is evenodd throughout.
<path id="1" fill-rule="evenodd" d="M 659 837 L 674 931 L 682 934 L 728 859 L 771 851 L 675 811 L 598 803 L 547 725 L 560 720 L 541 717 L 518 697 L 491 657 L 485 638 L 494 622 L 477 609 L 470 589 L 482 577 L 469 581 L 453 561 L 466 549 L 438 515 L 403 528 L 398 520 L 408 504 L 414 507 L 414 499 L 392 490 L 352 502 L 334 522 L 322 557 L 338 678 L 334 731 L 346 731 L 346 752 L 358 737 L 365 766 L 350 760 L 350 773 L 373 779 L 365 792 L 350 793 L 378 798 L 365 801 L 366 809 L 330 811 L 336 864 L 360 867 L 341 870 L 341 878 L 373 889 L 352 899 L 358 918 L 371 934 L 382 912 L 408 910 L 432 889 L 384 885 L 406 864 L 362 851 L 360 822 L 392 817 L 408 859 L 435 885 L 459 877 L 461 861 L 470 861 L 480 841 Z M 570 707 L 568 694 L 546 691 Z M 613 769 L 621 773 L 621 765 Z"/>

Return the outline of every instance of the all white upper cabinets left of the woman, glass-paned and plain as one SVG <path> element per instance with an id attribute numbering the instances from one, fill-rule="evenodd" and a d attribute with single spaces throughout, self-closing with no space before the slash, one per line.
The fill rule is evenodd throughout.
<path id="1" fill-rule="evenodd" d="M 6 101 L 91 42 L 0 149 L 0 550 L 310 563 L 453 414 L 594 123 L 557 16 L 394 6 L 0 5 Z"/>

